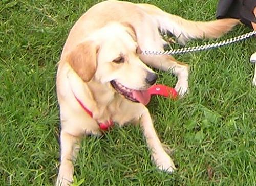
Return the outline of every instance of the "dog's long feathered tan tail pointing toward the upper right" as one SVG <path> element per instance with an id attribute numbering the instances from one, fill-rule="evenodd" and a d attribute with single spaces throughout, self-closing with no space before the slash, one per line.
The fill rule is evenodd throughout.
<path id="1" fill-rule="evenodd" d="M 157 22 L 161 32 L 172 33 L 180 43 L 196 38 L 218 38 L 239 23 L 238 19 L 226 18 L 212 21 L 190 21 L 162 11 L 158 7 L 139 4 Z"/>

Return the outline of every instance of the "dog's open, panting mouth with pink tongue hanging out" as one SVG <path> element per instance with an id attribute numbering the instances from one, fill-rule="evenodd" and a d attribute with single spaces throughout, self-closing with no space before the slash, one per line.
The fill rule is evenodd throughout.
<path id="1" fill-rule="evenodd" d="M 110 84 L 119 94 L 123 95 L 126 99 L 132 102 L 139 102 L 144 105 L 150 102 L 150 94 L 147 92 L 147 90 L 130 89 L 115 80 L 110 81 Z"/>

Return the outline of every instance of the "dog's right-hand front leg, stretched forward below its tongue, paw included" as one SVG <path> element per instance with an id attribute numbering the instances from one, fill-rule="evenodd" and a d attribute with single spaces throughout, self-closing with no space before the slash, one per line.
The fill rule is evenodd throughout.
<path id="1" fill-rule="evenodd" d="M 162 144 L 155 131 L 150 113 L 148 112 L 146 107 L 144 107 L 140 122 L 148 148 L 152 150 L 152 160 L 155 162 L 160 170 L 173 172 L 176 169 L 174 162 L 163 149 Z"/>

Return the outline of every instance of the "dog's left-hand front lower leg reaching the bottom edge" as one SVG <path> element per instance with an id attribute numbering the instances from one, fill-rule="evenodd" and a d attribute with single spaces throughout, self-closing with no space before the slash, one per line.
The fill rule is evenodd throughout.
<path id="1" fill-rule="evenodd" d="M 56 186 L 71 185 L 73 182 L 74 165 L 80 147 L 80 137 L 67 132 L 60 133 L 61 160 Z"/>

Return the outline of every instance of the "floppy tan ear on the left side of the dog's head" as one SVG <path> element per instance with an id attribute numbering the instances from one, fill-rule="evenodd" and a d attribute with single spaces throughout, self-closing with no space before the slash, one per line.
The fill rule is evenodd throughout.
<path id="1" fill-rule="evenodd" d="M 86 41 L 66 56 L 66 61 L 85 82 L 90 81 L 96 72 L 98 50 L 94 41 Z"/>

